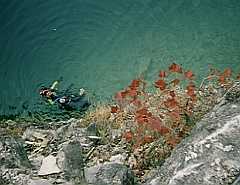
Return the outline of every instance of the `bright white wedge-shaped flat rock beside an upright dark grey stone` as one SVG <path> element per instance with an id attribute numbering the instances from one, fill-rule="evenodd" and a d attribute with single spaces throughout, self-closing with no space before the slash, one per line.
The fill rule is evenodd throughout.
<path id="1" fill-rule="evenodd" d="M 42 160 L 42 166 L 38 172 L 38 175 L 50 175 L 60 172 L 61 170 L 58 168 L 56 163 L 56 157 L 54 157 L 53 155 L 49 155 Z"/>

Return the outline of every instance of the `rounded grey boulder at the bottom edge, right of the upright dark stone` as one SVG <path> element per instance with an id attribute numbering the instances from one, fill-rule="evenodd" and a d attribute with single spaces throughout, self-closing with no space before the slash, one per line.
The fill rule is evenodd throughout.
<path id="1" fill-rule="evenodd" d="M 124 165 L 105 163 L 85 169 L 89 185 L 134 185 L 133 173 Z"/>

